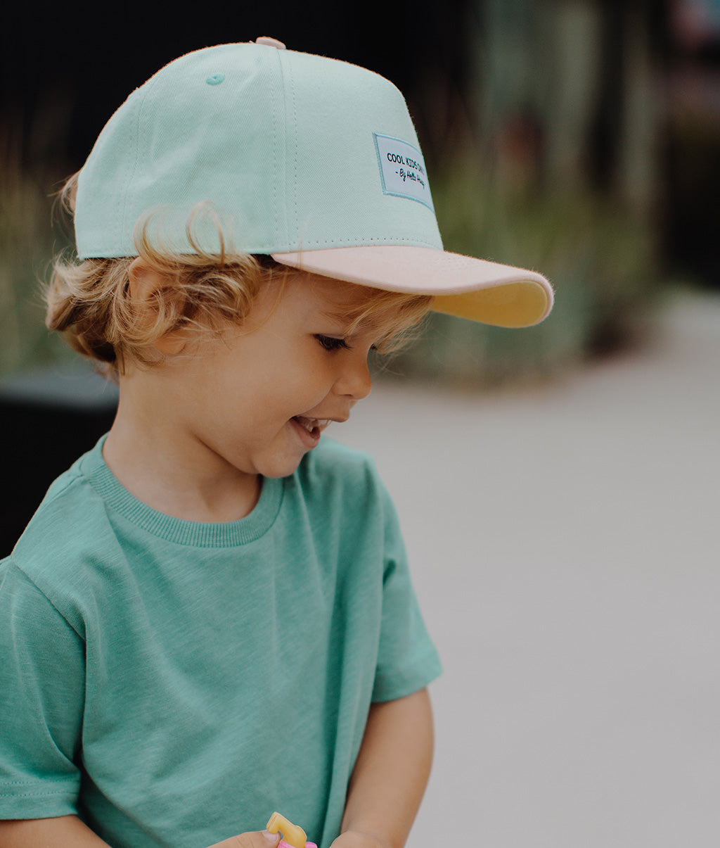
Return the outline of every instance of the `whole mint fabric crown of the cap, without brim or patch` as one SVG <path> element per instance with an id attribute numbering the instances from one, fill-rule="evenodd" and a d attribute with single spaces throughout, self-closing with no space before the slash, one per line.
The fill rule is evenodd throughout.
<path id="1" fill-rule="evenodd" d="M 136 221 L 149 212 L 158 238 L 191 251 L 186 220 L 202 202 L 251 253 L 441 248 L 432 209 L 384 191 L 378 136 L 421 159 L 401 92 L 372 71 L 257 44 L 188 53 L 133 92 L 98 138 L 80 177 L 79 254 L 135 255 Z M 201 233 L 212 250 L 213 226 Z"/>

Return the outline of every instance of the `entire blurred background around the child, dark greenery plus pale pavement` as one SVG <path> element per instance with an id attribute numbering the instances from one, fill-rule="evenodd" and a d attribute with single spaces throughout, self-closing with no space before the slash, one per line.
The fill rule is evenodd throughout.
<path id="1" fill-rule="evenodd" d="M 720 0 L 6 9 L 0 555 L 114 410 L 42 324 L 53 192 L 160 66 L 259 35 L 396 82 L 446 248 L 556 287 L 529 330 L 433 316 L 334 434 L 378 458 L 446 661 L 410 844 L 470 811 L 472 845 L 717 845 Z"/>

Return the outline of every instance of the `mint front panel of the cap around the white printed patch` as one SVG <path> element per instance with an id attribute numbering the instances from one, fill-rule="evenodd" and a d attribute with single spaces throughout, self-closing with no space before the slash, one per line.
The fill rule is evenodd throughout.
<path id="1" fill-rule="evenodd" d="M 296 122 L 297 217 L 294 239 L 291 232 L 291 244 L 276 252 L 365 244 L 440 249 L 433 210 L 383 190 L 375 134 L 419 153 L 396 86 L 372 71 L 308 53 L 281 51 L 280 62 Z"/>

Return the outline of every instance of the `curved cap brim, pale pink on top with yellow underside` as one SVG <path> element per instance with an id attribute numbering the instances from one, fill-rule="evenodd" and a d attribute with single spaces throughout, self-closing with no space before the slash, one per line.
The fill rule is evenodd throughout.
<path id="1" fill-rule="evenodd" d="M 301 271 L 390 292 L 427 294 L 435 312 L 494 326 L 532 326 L 552 309 L 544 276 L 434 248 L 371 245 L 272 254 Z"/>

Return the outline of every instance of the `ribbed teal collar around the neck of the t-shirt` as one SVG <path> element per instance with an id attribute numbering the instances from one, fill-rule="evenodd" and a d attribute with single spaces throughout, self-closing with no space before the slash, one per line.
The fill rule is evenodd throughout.
<path id="1" fill-rule="evenodd" d="M 284 479 L 263 477 L 260 499 L 249 516 L 236 522 L 190 522 L 143 504 L 121 484 L 102 458 L 103 436 L 87 453 L 80 471 L 100 495 L 109 510 L 115 510 L 136 527 L 175 544 L 200 548 L 230 548 L 248 544 L 272 527 L 280 511 L 285 489 Z"/>

